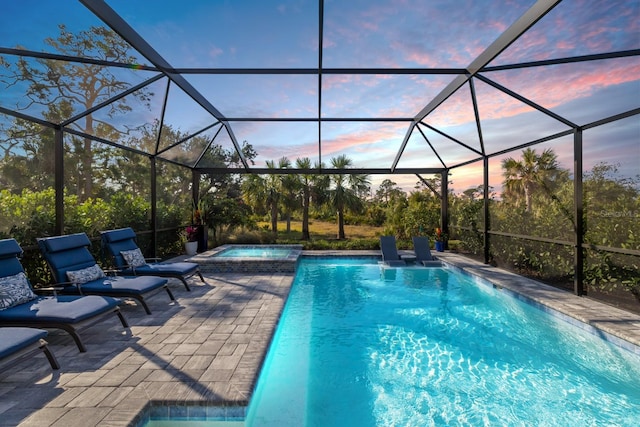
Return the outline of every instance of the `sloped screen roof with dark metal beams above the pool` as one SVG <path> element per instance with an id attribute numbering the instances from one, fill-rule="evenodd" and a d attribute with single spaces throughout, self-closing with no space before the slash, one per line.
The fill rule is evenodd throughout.
<path id="1" fill-rule="evenodd" d="M 266 161 L 283 156 L 327 164 L 346 155 L 367 173 L 433 173 L 638 114 L 638 8 L 636 0 L 11 2 L 0 17 L 0 121 L 62 125 L 203 172 L 218 171 L 205 155 L 211 144 L 240 150 L 246 141 L 256 157 L 242 159 L 245 172 L 268 172 Z M 122 52 L 56 43 L 91 27 L 111 30 Z M 120 84 L 91 104 L 56 87 L 35 99 L 26 83 L 9 84 L 22 61 L 37 68 L 42 58 L 61 73 L 93 67 Z M 46 103 L 61 97 L 69 111 L 54 119 Z M 88 114 L 105 126 L 80 126 Z M 637 150 L 632 122 L 623 121 L 636 127 L 615 141 L 621 149 Z M 142 144 L 148 129 L 155 143 Z"/>

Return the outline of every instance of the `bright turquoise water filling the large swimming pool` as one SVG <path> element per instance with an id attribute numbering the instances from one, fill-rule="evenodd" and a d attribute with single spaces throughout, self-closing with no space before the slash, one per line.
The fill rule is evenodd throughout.
<path id="1" fill-rule="evenodd" d="M 636 426 L 640 356 L 443 268 L 303 259 L 247 426 Z"/>

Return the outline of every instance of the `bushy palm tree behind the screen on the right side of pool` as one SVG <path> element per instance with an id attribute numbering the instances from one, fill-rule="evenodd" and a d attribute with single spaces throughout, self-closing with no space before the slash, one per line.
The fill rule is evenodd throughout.
<path id="1" fill-rule="evenodd" d="M 504 159 L 502 171 L 505 195 L 516 200 L 524 197 L 526 212 L 531 212 L 534 192 L 539 188 L 548 189 L 550 182 L 561 173 L 553 150 L 546 149 L 538 155 L 531 148 L 522 152 L 522 160 Z"/>

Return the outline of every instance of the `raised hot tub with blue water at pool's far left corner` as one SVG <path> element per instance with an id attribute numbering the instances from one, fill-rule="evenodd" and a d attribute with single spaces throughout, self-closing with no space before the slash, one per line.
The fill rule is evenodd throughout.
<path id="1" fill-rule="evenodd" d="M 223 245 L 189 258 L 207 273 L 293 273 L 302 245 Z"/>

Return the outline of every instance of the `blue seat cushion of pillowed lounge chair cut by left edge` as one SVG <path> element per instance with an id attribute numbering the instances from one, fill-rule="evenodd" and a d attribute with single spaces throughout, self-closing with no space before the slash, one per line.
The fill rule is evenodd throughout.
<path id="1" fill-rule="evenodd" d="M 24 323 L 77 323 L 107 312 L 120 304 L 120 300 L 97 295 L 38 297 L 25 304 L 0 310 L 2 321 Z"/>

